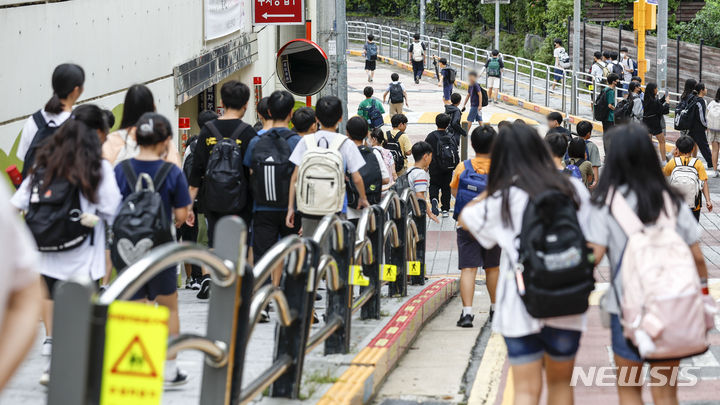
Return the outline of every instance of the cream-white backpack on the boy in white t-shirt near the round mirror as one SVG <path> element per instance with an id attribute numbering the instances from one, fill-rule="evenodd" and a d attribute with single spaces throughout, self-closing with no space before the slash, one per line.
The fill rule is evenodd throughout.
<path id="1" fill-rule="evenodd" d="M 327 148 L 321 148 L 314 134 L 303 138 L 307 151 L 300 163 L 295 185 L 298 211 L 311 216 L 342 211 L 345 202 L 345 169 L 340 147 L 346 140 L 338 135 Z"/>

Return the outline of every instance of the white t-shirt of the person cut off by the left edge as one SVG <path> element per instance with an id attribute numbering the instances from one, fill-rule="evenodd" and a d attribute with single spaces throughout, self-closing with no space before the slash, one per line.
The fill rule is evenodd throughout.
<path id="1" fill-rule="evenodd" d="M 25 223 L 8 203 L 10 193 L 0 184 L 0 330 L 10 295 L 37 280 L 39 255 Z"/>

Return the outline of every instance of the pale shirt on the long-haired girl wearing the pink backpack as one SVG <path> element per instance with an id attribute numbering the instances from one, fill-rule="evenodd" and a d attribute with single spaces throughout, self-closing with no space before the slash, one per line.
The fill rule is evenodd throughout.
<path id="1" fill-rule="evenodd" d="M 618 187 L 617 190 L 623 194 L 627 203 L 637 213 L 637 196 L 635 192 L 629 190 L 625 185 Z M 692 245 L 700 239 L 700 227 L 685 204 L 681 204 L 680 211 L 677 214 L 675 230 L 688 245 Z M 623 291 L 621 278 L 615 277 L 615 272 L 622 259 L 628 237 L 611 214 L 607 205 L 592 206 L 590 210 L 590 226 L 584 229 L 584 232 L 588 242 L 607 247 L 607 257 L 610 262 L 612 278 L 615 281 L 615 288 L 607 289 L 607 292 L 600 300 L 600 305 L 605 311 L 617 315 L 620 313 L 617 303 L 622 301 Z M 617 298 L 615 297 L 615 291 L 618 293 Z"/>

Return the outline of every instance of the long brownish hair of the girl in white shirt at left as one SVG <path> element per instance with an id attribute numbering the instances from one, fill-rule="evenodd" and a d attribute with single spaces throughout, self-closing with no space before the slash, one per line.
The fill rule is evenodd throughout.
<path id="1" fill-rule="evenodd" d="M 44 184 L 66 179 L 96 203 L 102 179 L 100 137 L 80 120 L 65 121 L 38 150 L 31 173 L 42 173 Z"/>

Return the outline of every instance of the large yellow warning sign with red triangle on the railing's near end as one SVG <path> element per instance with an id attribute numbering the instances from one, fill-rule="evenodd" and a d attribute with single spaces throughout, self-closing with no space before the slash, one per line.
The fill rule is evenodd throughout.
<path id="1" fill-rule="evenodd" d="M 117 301 L 108 308 L 100 405 L 159 405 L 168 309 Z"/>

